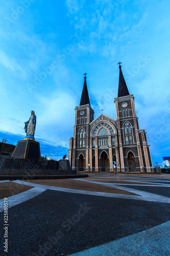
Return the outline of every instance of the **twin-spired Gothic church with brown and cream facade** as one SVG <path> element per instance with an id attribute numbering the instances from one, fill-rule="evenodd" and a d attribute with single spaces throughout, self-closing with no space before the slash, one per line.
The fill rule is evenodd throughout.
<path id="1" fill-rule="evenodd" d="M 84 75 L 80 105 L 76 106 L 74 137 L 68 159 L 79 172 L 153 172 L 150 145 L 145 130 L 139 130 L 133 94 L 129 94 L 119 63 L 118 95 L 114 99 L 116 119 L 101 114 L 94 119 Z"/>

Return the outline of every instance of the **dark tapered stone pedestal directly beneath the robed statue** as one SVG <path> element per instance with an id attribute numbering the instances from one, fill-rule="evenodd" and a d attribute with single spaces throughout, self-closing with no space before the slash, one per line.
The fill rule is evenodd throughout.
<path id="1" fill-rule="evenodd" d="M 11 158 L 40 159 L 39 142 L 31 139 L 19 140 Z"/>

